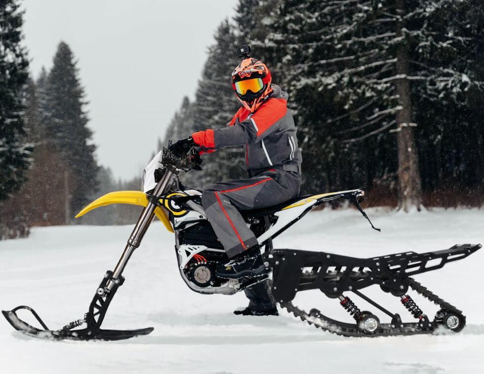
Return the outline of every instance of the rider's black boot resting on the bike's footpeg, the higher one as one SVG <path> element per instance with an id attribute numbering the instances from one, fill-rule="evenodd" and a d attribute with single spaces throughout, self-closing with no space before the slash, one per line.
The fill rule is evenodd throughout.
<path id="1" fill-rule="evenodd" d="M 221 278 L 237 279 L 264 276 L 269 269 L 264 266 L 258 245 L 255 245 L 225 264 L 217 265 L 216 273 Z"/>

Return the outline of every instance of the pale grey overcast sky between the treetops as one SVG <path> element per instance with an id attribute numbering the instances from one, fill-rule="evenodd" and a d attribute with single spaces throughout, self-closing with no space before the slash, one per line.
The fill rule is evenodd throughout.
<path id="1" fill-rule="evenodd" d="M 69 44 L 98 161 L 130 179 L 141 175 L 183 96 L 193 98 L 213 32 L 236 2 L 24 0 L 31 71 L 50 68 L 59 41 Z"/>

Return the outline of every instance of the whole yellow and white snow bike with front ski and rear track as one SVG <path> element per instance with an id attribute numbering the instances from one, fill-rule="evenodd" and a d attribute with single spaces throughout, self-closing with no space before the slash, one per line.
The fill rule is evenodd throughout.
<path id="1" fill-rule="evenodd" d="M 217 276 L 216 264 L 225 263 L 228 258 L 205 217 L 201 205 L 201 192 L 188 189 L 178 180 L 181 170 L 192 169 L 191 155 L 195 150 L 191 149 L 186 157 L 175 157 L 169 149 L 170 146 L 160 151 L 144 170 L 143 192 L 118 191 L 106 194 L 87 205 L 76 216 L 82 216 L 90 210 L 108 204 L 143 206 L 121 258 L 113 271 L 105 273 L 87 313 L 59 330 L 49 330 L 35 310 L 29 306 L 3 310 L 2 314 L 16 330 L 31 337 L 50 340 L 123 340 L 151 333 L 152 327 L 138 330 L 105 330 L 101 325 L 112 298 L 124 283 L 122 272 L 155 216 L 175 235 L 175 254 L 179 272 L 191 290 L 202 294 L 232 295 L 267 279 L 267 275 L 240 279 L 224 279 Z M 376 229 L 360 206 L 361 196 L 363 191 L 360 189 L 341 191 L 299 197 L 280 206 L 242 212 L 247 224 L 256 234 L 261 248 L 265 245 L 264 264 L 272 270 L 272 293 L 277 303 L 317 328 L 346 337 L 430 334 L 441 326 L 453 332 L 461 331 L 466 323 L 462 311 L 433 294 L 412 276 L 438 270 L 449 262 L 464 259 L 480 249 L 481 244 L 456 244 L 440 251 L 403 252 L 372 258 L 273 248 L 273 238 L 299 221 L 314 207 L 335 199 L 346 199 L 353 203 Z M 361 289 L 372 285 L 378 285 L 383 292 L 398 298 L 414 321 L 403 322 L 398 313 L 380 306 L 361 292 Z M 352 316 L 354 323 L 332 319 L 315 308 L 307 312 L 295 306 L 293 299 L 296 294 L 306 290 L 320 290 L 322 295 L 335 299 L 341 304 L 342 309 Z M 433 319 L 417 306 L 409 295 L 410 290 L 440 307 Z M 372 308 L 386 314 L 391 319 L 390 323 L 381 323 L 380 318 L 373 312 L 361 310 L 347 296 L 349 293 L 355 294 Z M 29 311 L 41 328 L 22 320 L 17 315 L 19 310 Z M 80 328 L 84 324 L 86 327 Z"/>

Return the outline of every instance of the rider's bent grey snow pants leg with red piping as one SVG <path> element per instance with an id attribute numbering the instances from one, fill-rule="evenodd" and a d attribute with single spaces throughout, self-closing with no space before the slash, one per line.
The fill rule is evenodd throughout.
<path id="1" fill-rule="evenodd" d="M 276 167 L 251 178 L 215 183 L 205 189 L 202 205 L 227 256 L 232 258 L 258 244 L 239 210 L 282 204 L 299 195 L 300 185 L 298 172 Z"/>

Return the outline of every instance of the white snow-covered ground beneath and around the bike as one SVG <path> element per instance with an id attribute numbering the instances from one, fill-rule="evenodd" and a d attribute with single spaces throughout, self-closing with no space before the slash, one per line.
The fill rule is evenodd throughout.
<path id="1" fill-rule="evenodd" d="M 403 214 L 369 209 L 382 232 L 353 209 L 312 212 L 276 240 L 284 248 L 314 249 L 359 257 L 403 250 L 445 249 L 484 242 L 484 210 L 436 209 Z M 105 270 L 112 269 L 131 227 L 52 227 L 30 238 L 0 242 L 0 308 L 29 305 L 57 329 L 83 316 Z M 118 342 L 56 342 L 27 338 L 0 320 L 1 373 L 483 373 L 484 249 L 445 268 L 416 276 L 461 308 L 460 334 L 403 338 L 336 337 L 296 320 L 239 317 L 243 294 L 203 296 L 181 280 L 173 237 L 154 222 L 124 272 L 105 328 L 153 326 L 148 336 Z M 384 306 L 412 321 L 398 299 L 378 289 Z M 373 310 L 358 300 L 358 305 Z M 433 316 L 436 306 L 415 297 Z M 295 304 L 316 306 L 350 321 L 335 300 L 300 293 Z M 2 319 L 2 318 L 1 318 Z M 386 321 L 384 317 L 381 318 Z"/>

